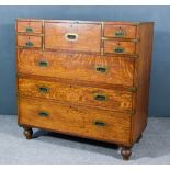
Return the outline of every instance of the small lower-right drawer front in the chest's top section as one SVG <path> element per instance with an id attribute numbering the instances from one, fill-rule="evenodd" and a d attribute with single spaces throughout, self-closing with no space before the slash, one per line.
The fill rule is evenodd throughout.
<path id="1" fill-rule="evenodd" d="M 104 41 L 104 53 L 135 55 L 136 43 Z"/>

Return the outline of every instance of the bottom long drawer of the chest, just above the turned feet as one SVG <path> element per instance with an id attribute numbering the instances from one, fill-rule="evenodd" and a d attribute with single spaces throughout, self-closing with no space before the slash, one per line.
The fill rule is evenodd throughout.
<path id="1" fill-rule="evenodd" d="M 129 143 L 129 114 L 29 98 L 19 98 L 19 111 L 20 124 L 101 140 Z"/>

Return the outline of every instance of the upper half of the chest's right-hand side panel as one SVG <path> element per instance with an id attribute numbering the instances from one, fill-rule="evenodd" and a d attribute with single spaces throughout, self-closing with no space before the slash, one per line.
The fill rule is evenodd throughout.
<path id="1" fill-rule="evenodd" d="M 136 49 L 139 57 L 136 60 L 136 72 L 134 73 L 134 81 L 137 87 L 150 79 L 154 24 L 139 25 L 138 38 L 140 41 L 138 42 Z"/>

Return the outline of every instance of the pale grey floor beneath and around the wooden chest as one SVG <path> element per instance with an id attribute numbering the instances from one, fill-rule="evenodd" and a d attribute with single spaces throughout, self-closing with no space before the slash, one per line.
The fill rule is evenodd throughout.
<path id="1" fill-rule="evenodd" d="M 26 140 L 15 115 L 0 115 L 0 163 L 16 165 L 117 165 L 170 163 L 170 118 L 149 118 L 129 161 L 123 161 L 116 146 L 34 129 Z"/>

